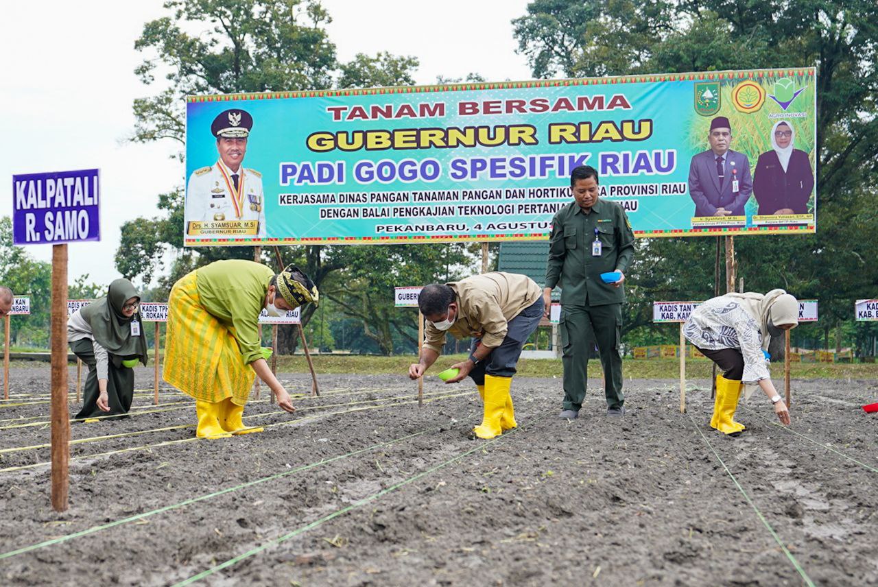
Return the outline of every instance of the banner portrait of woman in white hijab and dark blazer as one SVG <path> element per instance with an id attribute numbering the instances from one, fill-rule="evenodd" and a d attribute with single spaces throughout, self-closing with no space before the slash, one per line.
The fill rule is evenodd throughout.
<path id="1" fill-rule="evenodd" d="M 795 131 L 786 120 L 771 130 L 772 150 L 759 155 L 753 172 L 753 196 L 760 216 L 807 214 L 814 189 L 814 173 L 808 154 L 793 147 Z"/>

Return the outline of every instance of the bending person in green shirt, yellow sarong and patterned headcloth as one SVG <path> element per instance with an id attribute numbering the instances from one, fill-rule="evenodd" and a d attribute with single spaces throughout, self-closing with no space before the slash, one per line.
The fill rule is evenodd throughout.
<path id="1" fill-rule="evenodd" d="M 198 438 L 263 431 L 241 420 L 255 376 L 282 409 L 296 411 L 263 358 L 259 314 L 282 316 L 308 302 L 318 302 L 317 288 L 294 265 L 276 276 L 254 261 L 215 261 L 174 284 L 163 377 L 195 398 Z"/>

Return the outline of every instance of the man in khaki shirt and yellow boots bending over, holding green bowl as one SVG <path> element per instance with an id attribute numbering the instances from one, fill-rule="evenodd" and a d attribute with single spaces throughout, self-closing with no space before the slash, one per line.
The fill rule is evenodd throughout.
<path id="1" fill-rule="evenodd" d="M 540 287 L 528 276 L 494 271 L 459 282 L 432 283 L 421 290 L 418 306 L 427 319 L 421 361 L 408 368 L 408 376 L 424 375 L 445 345 L 445 334 L 456 339 L 473 337 L 469 358 L 458 362 L 457 383 L 470 376 L 485 402 L 482 423 L 473 429 L 479 438 L 491 439 L 515 428 L 515 411 L 509 388 L 522 347 L 543 318 Z"/>

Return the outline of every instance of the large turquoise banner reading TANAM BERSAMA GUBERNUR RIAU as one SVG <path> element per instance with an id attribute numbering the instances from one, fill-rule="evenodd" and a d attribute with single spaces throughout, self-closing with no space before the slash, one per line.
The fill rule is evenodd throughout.
<path id="1" fill-rule="evenodd" d="M 638 237 L 813 233 L 815 75 L 188 97 L 184 242 L 546 240 L 579 165 Z"/>

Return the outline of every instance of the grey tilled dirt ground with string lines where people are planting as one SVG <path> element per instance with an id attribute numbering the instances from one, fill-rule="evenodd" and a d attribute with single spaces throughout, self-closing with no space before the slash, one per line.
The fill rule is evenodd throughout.
<path id="1" fill-rule="evenodd" d="M 263 388 L 245 410 L 263 433 L 193 440 L 191 400 L 162 384 L 155 407 L 152 370 L 136 378 L 137 415 L 72 425 L 59 514 L 48 369 L 13 369 L 0 583 L 878 584 L 878 414 L 859 407 L 878 382 L 794 381 L 786 429 L 742 400 L 732 439 L 708 426 L 706 381 L 686 414 L 676 382 L 626 381 L 611 420 L 593 380 L 567 422 L 559 378 L 518 378 L 519 428 L 484 441 L 470 385 L 428 376 L 419 408 L 402 376 L 322 376 L 294 415 Z"/>

